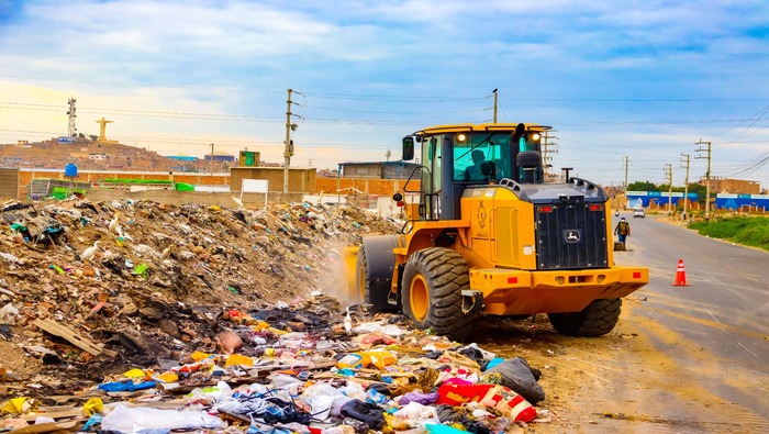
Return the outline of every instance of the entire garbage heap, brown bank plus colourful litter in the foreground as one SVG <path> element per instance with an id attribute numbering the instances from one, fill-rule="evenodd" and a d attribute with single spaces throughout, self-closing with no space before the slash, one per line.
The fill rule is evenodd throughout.
<path id="1" fill-rule="evenodd" d="M 520 357 L 333 297 L 348 205 L 0 210 L 0 432 L 476 434 L 547 422 Z"/>

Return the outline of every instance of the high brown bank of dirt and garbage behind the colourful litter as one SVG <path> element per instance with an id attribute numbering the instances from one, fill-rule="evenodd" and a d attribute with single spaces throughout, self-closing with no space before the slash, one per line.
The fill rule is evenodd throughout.
<path id="1" fill-rule="evenodd" d="M 333 294 L 344 287 L 343 247 L 397 227 L 348 205 L 7 202 L 0 352 L 21 356 L 0 366 L 23 376 L 65 365 L 68 378 L 98 380 L 190 348 L 215 350 L 224 309 Z"/>

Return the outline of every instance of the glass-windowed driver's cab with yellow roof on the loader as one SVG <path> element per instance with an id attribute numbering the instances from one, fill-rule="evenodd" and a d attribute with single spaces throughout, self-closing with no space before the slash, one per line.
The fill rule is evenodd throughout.
<path id="1" fill-rule="evenodd" d="M 457 220 L 468 188 L 544 182 L 543 133 L 534 124 L 460 124 L 425 129 L 403 138 L 403 159 L 421 145 L 420 218 Z M 409 181 L 405 186 L 409 189 Z"/>

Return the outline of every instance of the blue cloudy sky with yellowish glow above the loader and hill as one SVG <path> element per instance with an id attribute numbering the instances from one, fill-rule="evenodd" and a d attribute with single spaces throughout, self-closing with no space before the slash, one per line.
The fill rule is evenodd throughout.
<path id="1" fill-rule="evenodd" d="M 553 166 L 605 183 L 769 188 L 769 2 L 0 0 L 0 143 L 78 132 L 161 154 L 292 166 L 391 159 L 402 136 L 492 119 L 551 125 Z"/>

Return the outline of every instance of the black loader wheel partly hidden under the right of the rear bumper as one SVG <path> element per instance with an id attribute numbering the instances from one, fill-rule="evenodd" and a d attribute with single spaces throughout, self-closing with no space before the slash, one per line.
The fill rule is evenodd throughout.
<path id="1" fill-rule="evenodd" d="M 595 300 L 581 312 L 548 313 L 553 327 L 567 336 L 603 336 L 620 320 L 622 299 Z"/>

